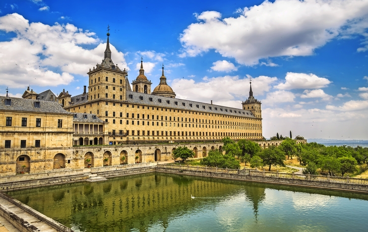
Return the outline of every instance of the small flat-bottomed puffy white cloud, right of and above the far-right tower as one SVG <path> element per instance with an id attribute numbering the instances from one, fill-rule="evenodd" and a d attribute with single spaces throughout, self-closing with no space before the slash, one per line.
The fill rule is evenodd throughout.
<path id="1" fill-rule="evenodd" d="M 277 89 L 319 89 L 331 83 L 327 78 L 318 77 L 315 74 L 291 73 L 285 77 L 285 83 L 275 86 Z"/>

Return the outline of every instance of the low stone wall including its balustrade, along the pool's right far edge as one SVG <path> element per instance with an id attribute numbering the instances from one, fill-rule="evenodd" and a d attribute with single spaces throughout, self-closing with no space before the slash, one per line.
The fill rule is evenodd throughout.
<path id="1" fill-rule="evenodd" d="M 191 175 L 191 176 L 210 177 L 228 180 L 267 183 L 267 184 L 290 185 L 306 188 L 319 188 L 327 190 L 359 192 L 368 194 L 368 179 L 335 178 L 335 177 L 328 178 L 312 175 L 292 175 L 288 173 L 261 172 L 249 169 L 248 171 L 246 170 L 245 173 L 244 172 L 240 173 L 240 170 L 235 169 L 162 165 L 162 164 L 157 165 L 156 171 L 178 173 L 180 175 Z M 321 178 L 318 179 L 315 177 Z M 351 181 L 353 183 L 351 183 Z"/>

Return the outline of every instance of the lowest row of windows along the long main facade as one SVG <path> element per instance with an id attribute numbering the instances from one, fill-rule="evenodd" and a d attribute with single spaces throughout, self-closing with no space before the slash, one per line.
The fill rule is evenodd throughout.
<path id="1" fill-rule="evenodd" d="M 137 132 L 137 133 L 136 133 Z M 142 134 L 141 134 L 142 132 Z M 156 134 L 155 134 L 156 133 Z M 188 132 L 188 131 L 127 131 L 127 136 L 262 136 L 262 133 L 232 133 L 232 132 Z M 181 134 L 181 135 L 180 135 Z"/>

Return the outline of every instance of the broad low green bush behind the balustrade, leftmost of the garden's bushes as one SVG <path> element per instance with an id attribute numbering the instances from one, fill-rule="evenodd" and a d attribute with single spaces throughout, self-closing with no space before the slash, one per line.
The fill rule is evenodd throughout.
<path id="1" fill-rule="evenodd" d="M 208 156 L 201 160 L 201 163 L 210 167 L 237 169 L 240 167 L 239 161 L 233 156 L 222 153 L 219 150 L 211 150 Z"/>

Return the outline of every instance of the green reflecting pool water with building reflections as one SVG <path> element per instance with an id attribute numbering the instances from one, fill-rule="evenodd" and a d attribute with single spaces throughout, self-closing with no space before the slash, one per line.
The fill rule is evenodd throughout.
<path id="1" fill-rule="evenodd" d="M 368 228 L 368 195 L 163 173 L 8 194 L 76 231 Z"/>

